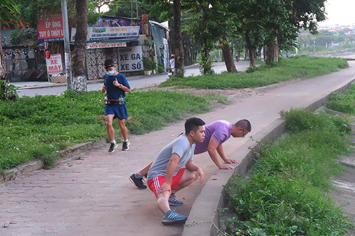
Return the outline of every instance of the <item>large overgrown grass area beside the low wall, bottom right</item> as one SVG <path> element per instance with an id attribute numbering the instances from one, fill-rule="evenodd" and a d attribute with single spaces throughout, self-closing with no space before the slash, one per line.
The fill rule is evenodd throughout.
<path id="1" fill-rule="evenodd" d="M 344 132 L 347 121 L 332 122 L 325 114 L 300 119 L 306 113 L 283 112 L 291 135 L 261 145 L 250 178 L 229 181 L 237 216 L 225 220 L 226 235 L 350 235 L 351 219 L 327 191 L 332 177 L 345 169 L 337 158 L 350 152 L 351 129 Z"/>

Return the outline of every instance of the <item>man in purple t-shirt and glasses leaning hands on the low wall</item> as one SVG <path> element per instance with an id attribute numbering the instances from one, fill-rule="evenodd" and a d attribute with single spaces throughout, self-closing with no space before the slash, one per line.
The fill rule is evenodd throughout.
<path id="1" fill-rule="evenodd" d="M 212 161 L 219 169 L 233 169 L 233 166 L 225 165 L 227 163 L 237 163 L 234 159 L 228 159 L 223 150 L 223 143 L 230 137 L 240 138 L 245 137 L 251 131 L 251 123 L 249 120 L 243 119 L 236 123 L 229 123 L 225 120 L 217 120 L 205 126 L 205 138 L 202 143 L 196 143 L 194 154 L 208 152 Z M 224 163 L 218 159 L 218 155 Z M 149 162 L 143 169 L 137 173 L 133 173 L 129 180 L 136 186 L 137 189 L 146 189 L 143 184 L 143 176 L 148 173 L 153 161 Z"/>

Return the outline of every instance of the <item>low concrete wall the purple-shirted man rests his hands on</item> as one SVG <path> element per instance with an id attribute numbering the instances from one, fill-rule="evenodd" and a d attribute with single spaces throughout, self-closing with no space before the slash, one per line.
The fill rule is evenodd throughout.
<path id="1" fill-rule="evenodd" d="M 344 91 L 354 81 L 355 80 L 352 80 L 334 92 L 340 93 Z M 329 99 L 331 93 L 313 99 L 301 105 L 299 108 L 314 111 L 320 108 L 323 103 Z M 238 163 L 233 173 L 231 173 L 230 170 L 218 169 L 207 181 L 192 205 L 182 236 L 218 235 L 219 229 L 224 228 L 223 222 L 219 217 L 218 208 L 224 208 L 227 205 L 225 193 L 226 183 L 233 175 L 245 175 L 247 173 L 257 159 L 256 153 L 259 150 L 258 143 L 268 144 L 269 142 L 273 142 L 284 132 L 285 121 L 279 118 L 256 133 L 256 135 L 253 136 L 253 140 L 249 139 L 231 155 L 235 157 L 242 156 L 242 161 Z"/>

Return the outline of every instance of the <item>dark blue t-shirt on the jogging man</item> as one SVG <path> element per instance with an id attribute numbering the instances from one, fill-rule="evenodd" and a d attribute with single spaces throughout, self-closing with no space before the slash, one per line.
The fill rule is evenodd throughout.
<path id="1" fill-rule="evenodd" d="M 107 99 L 109 99 L 109 100 L 117 100 L 121 96 L 124 97 L 126 95 L 124 90 L 113 85 L 113 81 L 115 81 L 115 79 L 117 79 L 119 84 L 122 84 L 122 85 L 126 86 L 127 88 L 131 89 L 130 85 L 127 82 L 126 77 L 124 75 L 122 75 L 121 73 L 118 73 L 115 76 L 109 76 L 108 74 L 105 74 L 104 75 L 104 85 L 107 90 L 106 91 Z"/>

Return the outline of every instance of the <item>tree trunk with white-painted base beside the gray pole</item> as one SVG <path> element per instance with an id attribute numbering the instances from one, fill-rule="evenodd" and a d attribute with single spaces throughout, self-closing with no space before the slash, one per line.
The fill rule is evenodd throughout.
<path id="1" fill-rule="evenodd" d="M 87 0 L 76 0 L 76 35 L 73 50 L 73 88 L 77 92 L 87 92 L 86 81 L 86 40 L 87 40 Z"/>

